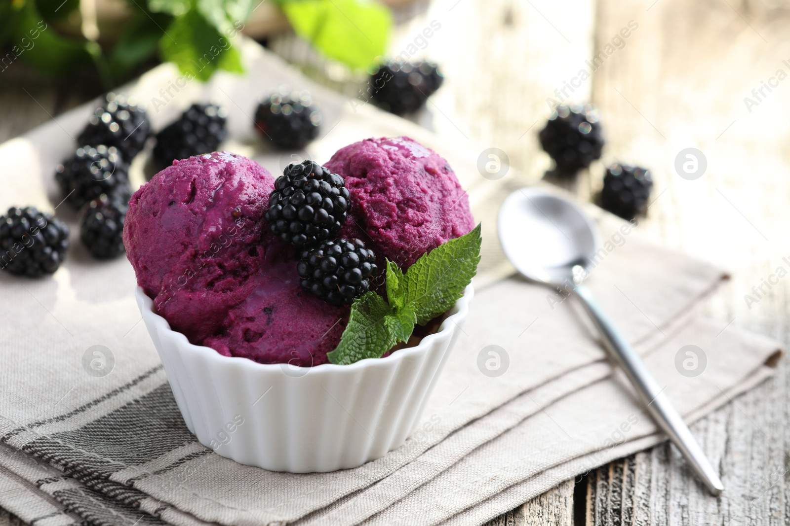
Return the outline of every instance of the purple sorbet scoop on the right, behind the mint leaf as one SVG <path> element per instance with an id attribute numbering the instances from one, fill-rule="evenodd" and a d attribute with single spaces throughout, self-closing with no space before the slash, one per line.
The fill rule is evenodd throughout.
<path id="1" fill-rule="evenodd" d="M 408 137 L 366 139 L 326 167 L 345 179 L 352 207 L 342 237 L 359 237 L 405 269 L 474 228 L 469 200 L 445 159 Z"/>

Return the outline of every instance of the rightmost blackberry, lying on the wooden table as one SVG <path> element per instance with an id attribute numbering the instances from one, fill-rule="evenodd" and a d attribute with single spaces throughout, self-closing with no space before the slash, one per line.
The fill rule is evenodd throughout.
<path id="1" fill-rule="evenodd" d="M 615 164 L 607 168 L 600 206 L 623 219 L 644 215 L 653 188 L 650 170 L 639 166 Z"/>

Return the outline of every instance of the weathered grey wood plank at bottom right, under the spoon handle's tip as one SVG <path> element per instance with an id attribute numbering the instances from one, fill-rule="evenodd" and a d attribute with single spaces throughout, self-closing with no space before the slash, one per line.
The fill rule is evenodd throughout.
<path id="1" fill-rule="evenodd" d="M 727 488 L 721 498 L 710 497 L 674 446 L 664 444 L 592 472 L 585 523 L 785 524 L 786 420 L 777 414 L 786 410 L 782 373 L 692 427 L 705 453 L 720 459 Z M 619 509 L 611 505 L 615 494 Z"/>

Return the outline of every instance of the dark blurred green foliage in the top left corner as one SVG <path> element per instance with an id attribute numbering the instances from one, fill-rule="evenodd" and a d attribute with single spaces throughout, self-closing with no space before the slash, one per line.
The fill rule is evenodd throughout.
<path id="1" fill-rule="evenodd" d="M 243 28 L 252 0 L 128 0 L 131 18 L 103 45 L 58 31 L 79 0 L 0 0 L 0 69 L 17 58 L 50 76 L 92 65 L 105 88 L 137 66 L 160 58 L 182 73 L 208 80 L 216 69 L 242 72 L 232 39 Z"/>

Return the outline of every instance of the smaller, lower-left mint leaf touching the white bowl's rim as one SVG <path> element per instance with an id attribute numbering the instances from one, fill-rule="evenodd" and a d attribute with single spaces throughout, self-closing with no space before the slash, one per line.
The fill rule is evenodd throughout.
<path id="1" fill-rule="evenodd" d="M 333 364 L 352 364 L 365 358 L 378 358 L 397 342 L 385 326 L 389 305 L 377 293 L 369 292 L 354 301 L 348 325 L 340 343 L 326 357 Z M 385 349 L 378 353 L 378 349 Z M 378 356 L 377 354 L 378 353 Z"/>

